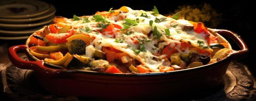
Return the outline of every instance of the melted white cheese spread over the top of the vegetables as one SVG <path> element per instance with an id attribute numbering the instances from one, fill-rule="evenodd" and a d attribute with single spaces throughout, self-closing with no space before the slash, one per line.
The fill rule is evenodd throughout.
<path id="1" fill-rule="evenodd" d="M 158 58 L 158 56 L 154 56 L 153 54 L 161 52 L 166 45 L 170 45 L 171 48 L 176 49 L 179 53 L 187 53 L 191 51 L 189 50 L 189 48 L 184 49 L 182 51 L 180 49 L 181 42 L 189 43 L 193 47 L 197 47 L 198 49 L 205 50 L 209 53 L 213 51 L 210 48 L 204 49 L 203 47 L 200 47 L 198 45 L 198 41 L 202 41 L 203 43 L 201 45 L 209 46 L 203 33 L 196 33 L 194 32 L 194 30 L 183 31 L 185 25 L 193 26 L 187 20 L 175 20 L 171 17 L 165 17 L 160 14 L 155 16 L 151 14 L 153 13 L 151 11 L 147 12 L 143 10 L 132 10 L 129 7 L 127 7 L 127 9 L 129 10 L 129 12 L 119 11 L 118 15 L 112 14 L 108 18 L 105 18 L 103 16 L 103 18 L 105 18 L 105 20 L 110 24 L 116 24 L 121 26 L 122 28 L 124 28 L 123 24 L 126 23 L 126 20 L 124 19 L 131 19 L 133 21 L 139 20 L 139 23 L 137 23 L 136 26 L 131 26 L 130 28 L 123 31 L 119 31 L 119 29 L 113 28 L 112 31 L 110 30 L 103 33 L 99 33 L 99 30 L 103 30 L 103 28 L 97 26 L 99 22 L 96 22 L 92 16 L 88 18 L 90 20 L 90 22 L 88 23 L 84 23 L 83 20 L 71 21 L 69 23 L 69 25 L 71 25 L 72 27 L 77 28 L 76 30 L 78 30 L 78 33 L 75 34 L 81 33 L 81 31 L 79 31 L 79 28 L 86 27 L 90 30 L 94 30 L 86 33 L 90 35 L 90 37 L 95 37 L 94 41 L 92 41 L 90 45 L 86 47 L 85 55 L 87 57 L 92 58 L 92 54 L 94 53 L 95 49 L 101 50 L 103 46 L 113 47 L 122 52 L 126 52 L 129 56 L 135 58 L 136 60 L 141 62 L 141 64 L 144 64 L 146 67 L 148 67 L 150 71 L 159 72 L 157 68 L 163 64 L 164 60 L 153 60 L 153 58 Z M 142 13 L 147 15 L 148 17 L 142 17 Z M 155 22 L 156 18 L 164 18 L 165 20 L 157 23 Z M 152 26 L 150 26 L 149 23 L 151 20 L 153 21 Z M 154 31 L 155 26 L 159 34 L 162 36 L 158 40 L 155 39 L 156 36 L 154 36 L 152 33 Z M 170 36 L 166 35 L 165 29 L 169 30 Z M 111 33 L 115 35 L 115 38 Z M 115 42 L 119 39 L 124 41 L 122 43 Z M 141 46 L 140 44 L 134 43 L 133 40 L 137 39 L 140 39 L 143 42 L 142 45 L 144 46 L 145 49 L 144 52 L 140 52 L 139 54 L 136 54 L 133 51 L 133 49 L 139 49 L 139 47 Z M 162 42 L 159 43 L 159 41 Z M 158 46 L 156 47 L 155 45 Z M 163 54 L 162 56 L 165 55 Z"/>

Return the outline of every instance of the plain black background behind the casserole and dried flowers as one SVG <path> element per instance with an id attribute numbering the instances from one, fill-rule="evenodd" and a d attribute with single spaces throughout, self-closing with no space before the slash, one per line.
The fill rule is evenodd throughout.
<path id="1" fill-rule="evenodd" d="M 216 29 L 231 30 L 242 37 L 249 47 L 249 56 L 240 60 L 243 64 L 248 65 L 250 71 L 256 77 L 255 59 L 255 31 L 253 31 L 254 5 L 252 2 L 245 0 L 149 0 L 148 2 L 140 2 L 139 0 L 44 0 L 53 4 L 57 11 L 56 15 L 67 18 L 72 18 L 73 14 L 77 16 L 92 15 L 97 11 L 108 11 L 110 8 L 119 9 L 121 6 L 129 6 L 132 9 L 151 11 L 153 6 L 157 6 L 160 14 L 174 12 L 178 6 L 203 5 L 204 3 L 211 4 L 211 7 L 221 14 L 221 22 L 216 26 Z M 236 46 L 232 46 L 236 48 Z M 237 48 L 236 48 L 237 49 Z"/>

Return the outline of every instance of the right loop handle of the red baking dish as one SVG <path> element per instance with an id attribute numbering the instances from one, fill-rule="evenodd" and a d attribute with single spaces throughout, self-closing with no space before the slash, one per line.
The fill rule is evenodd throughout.
<path id="1" fill-rule="evenodd" d="M 232 60 L 236 60 L 236 59 L 242 59 L 242 58 L 246 58 L 249 54 L 249 49 L 247 47 L 247 45 L 245 44 L 245 42 L 243 41 L 243 39 L 236 33 L 229 31 L 229 30 L 218 30 L 218 29 L 213 29 L 213 31 L 217 32 L 218 34 L 220 34 L 221 36 L 224 37 L 229 37 L 231 39 L 233 39 L 236 44 L 240 47 L 241 50 L 232 50 L 231 52 L 231 59 Z"/>

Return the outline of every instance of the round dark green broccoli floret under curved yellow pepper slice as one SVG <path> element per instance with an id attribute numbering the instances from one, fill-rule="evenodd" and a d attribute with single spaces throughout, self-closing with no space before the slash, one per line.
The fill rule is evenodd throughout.
<path id="1" fill-rule="evenodd" d="M 86 43 L 81 39 L 74 39 L 67 47 L 70 54 L 83 55 L 85 54 Z"/>

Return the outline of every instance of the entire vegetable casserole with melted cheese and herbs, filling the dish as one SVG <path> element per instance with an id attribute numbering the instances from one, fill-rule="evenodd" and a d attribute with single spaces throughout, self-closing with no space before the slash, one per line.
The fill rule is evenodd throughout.
<path id="1" fill-rule="evenodd" d="M 29 38 L 29 53 L 55 67 L 103 73 L 168 72 L 218 62 L 230 50 L 201 22 L 120 9 L 56 17 Z"/>

